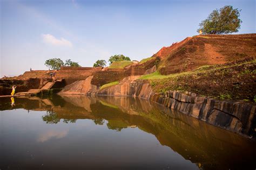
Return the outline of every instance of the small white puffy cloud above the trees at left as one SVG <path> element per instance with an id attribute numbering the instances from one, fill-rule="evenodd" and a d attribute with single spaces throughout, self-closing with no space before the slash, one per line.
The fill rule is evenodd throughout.
<path id="1" fill-rule="evenodd" d="M 50 34 L 43 34 L 43 41 L 46 44 L 52 44 L 56 46 L 69 46 L 72 47 L 72 43 L 64 38 L 57 39 L 55 36 Z"/>

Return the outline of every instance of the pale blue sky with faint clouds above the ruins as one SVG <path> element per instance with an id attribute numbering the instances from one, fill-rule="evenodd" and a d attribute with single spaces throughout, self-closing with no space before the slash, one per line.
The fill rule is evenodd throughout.
<path id="1" fill-rule="evenodd" d="M 197 35 L 198 24 L 225 5 L 241 9 L 237 33 L 255 33 L 255 0 L 0 0 L 0 76 L 48 70 L 50 58 L 92 66 L 117 54 L 151 57 Z"/>

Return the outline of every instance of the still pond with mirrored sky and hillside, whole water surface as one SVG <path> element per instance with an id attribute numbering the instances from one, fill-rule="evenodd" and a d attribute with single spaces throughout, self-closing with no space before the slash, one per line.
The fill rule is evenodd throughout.
<path id="1" fill-rule="evenodd" d="M 147 100 L 0 101 L 1 170 L 256 168 L 255 142 Z"/>

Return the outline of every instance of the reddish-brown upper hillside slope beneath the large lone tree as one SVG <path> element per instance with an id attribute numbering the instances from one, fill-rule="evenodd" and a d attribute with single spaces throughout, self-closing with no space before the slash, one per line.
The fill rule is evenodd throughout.
<path id="1" fill-rule="evenodd" d="M 171 74 L 255 56 L 256 34 L 252 33 L 188 37 L 163 47 L 153 57 L 161 58 L 158 65 L 161 74 Z"/>

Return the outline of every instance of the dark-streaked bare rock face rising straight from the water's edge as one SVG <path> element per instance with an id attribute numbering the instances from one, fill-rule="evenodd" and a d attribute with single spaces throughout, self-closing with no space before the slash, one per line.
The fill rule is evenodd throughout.
<path id="1" fill-rule="evenodd" d="M 97 91 L 96 94 L 149 99 L 211 125 L 255 137 L 256 106 L 241 101 L 220 101 L 177 91 L 158 94 L 153 92 L 146 80 L 129 77 L 123 83 Z"/>

